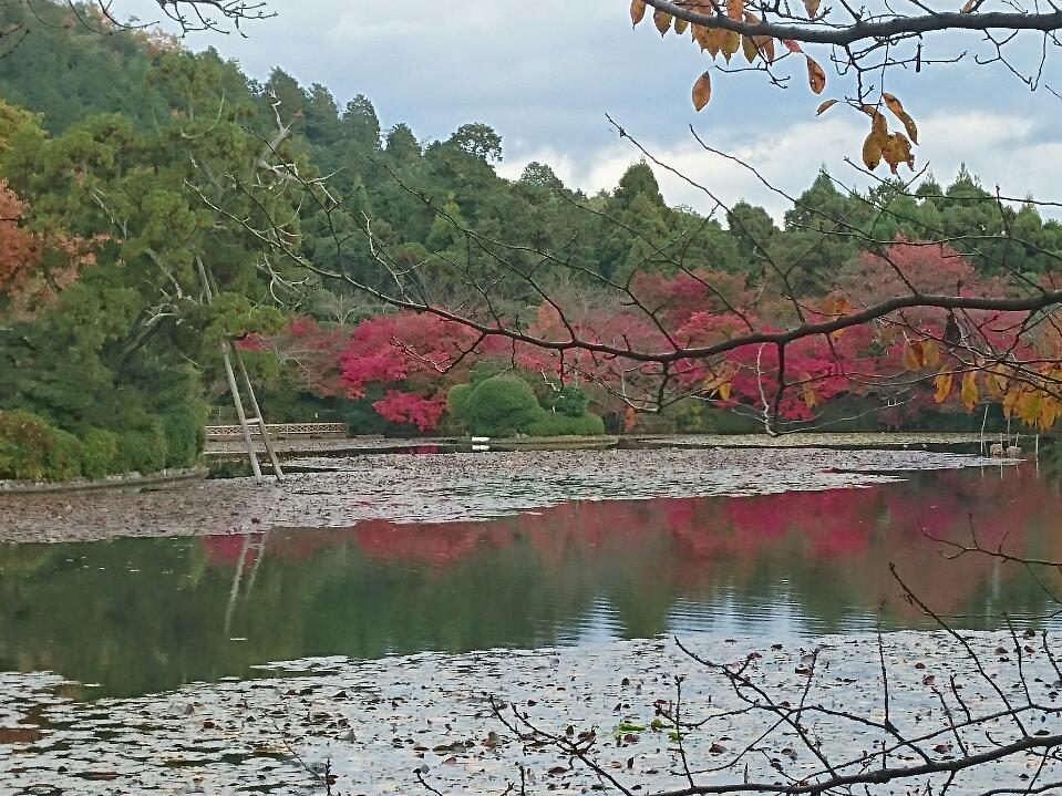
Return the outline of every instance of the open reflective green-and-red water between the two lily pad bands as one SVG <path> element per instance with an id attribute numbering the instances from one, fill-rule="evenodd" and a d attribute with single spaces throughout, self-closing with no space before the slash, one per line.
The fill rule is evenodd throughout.
<path id="1" fill-rule="evenodd" d="M 863 489 L 569 503 L 487 523 L 0 547 L 0 669 L 131 695 L 306 655 L 579 643 L 667 631 L 917 627 L 887 564 L 959 623 L 1048 607 L 1014 567 L 924 531 L 1062 558 L 1031 467 Z"/>

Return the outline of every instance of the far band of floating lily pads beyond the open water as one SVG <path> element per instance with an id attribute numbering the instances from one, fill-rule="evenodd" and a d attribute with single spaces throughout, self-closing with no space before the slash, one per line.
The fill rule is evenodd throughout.
<path id="1" fill-rule="evenodd" d="M 520 451 L 302 459 L 321 472 L 50 495 L 0 493 L 0 541 L 207 536 L 270 528 L 492 519 L 566 500 L 777 494 L 865 487 L 904 472 L 1000 466 L 910 449 L 694 448 Z M 1013 463 L 1010 463 L 1013 464 Z"/>

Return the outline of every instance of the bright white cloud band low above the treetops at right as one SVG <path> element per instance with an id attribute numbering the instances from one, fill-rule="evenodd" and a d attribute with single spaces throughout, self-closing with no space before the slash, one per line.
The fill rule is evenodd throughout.
<path id="1" fill-rule="evenodd" d="M 637 131 L 629 132 L 638 136 Z M 656 159 L 711 194 L 651 164 L 669 203 L 709 211 L 715 205 L 712 197 L 725 206 L 746 199 L 781 219 L 791 205 L 783 194 L 797 196 L 821 166 L 826 166 L 845 185 L 866 187 L 869 178 L 845 162 L 850 157 L 858 163 L 866 133 L 866 121 L 862 116 L 837 114 L 832 118 L 800 122 L 781 132 L 702 135 L 713 148 L 753 166 L 777 190 L 765 186 L 740 163 L 705 152 L 692 135 L 678 143 L 649 139 L 642 144 Z M 1043 141 L 1033 139 L 1037 134 L 1031 120 L 1015 122 L 1002 114 L 968 112 L 929 116 L 921 125 L 925 143 L 916 147 L 916 168 L 928 163 L 938 179 L 947 182 L 965 164 L 973 174 L 983 175 L 989 189 L 999 183 L 1003 195 L 1023 197 L 1031 193 L 1040 198 L 1062 198 L 1059 187 L 1062 186 L 1062 130 L 1055 131 L 1054 138 Z M 622 143 L 592 151 L 522 146 L 511 153 L 499 173 L 516 178 L 527 163 L 540 161 L 553 166 L 567 185 L 596 193 L 614 188 L 623 172 L 640 157 L 641 153 L 632 145 Z M 1006 168 L 1000 168 L 1001 163 Z M 878 174 L 888 175 L 884 166 Z M 900 176 L 907 174 L 906 167 L 901 167 Z"/>

